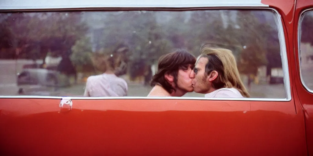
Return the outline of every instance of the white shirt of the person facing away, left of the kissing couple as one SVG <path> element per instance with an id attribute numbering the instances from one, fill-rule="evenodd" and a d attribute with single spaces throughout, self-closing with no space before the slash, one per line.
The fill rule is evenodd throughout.
<path id="1" fill-rule="evenodd" d="M 90 76 L 86 82 L 84 96 L 127 96 L 128 86 L 124 79 L 115 74 L 100 74 Z"/>

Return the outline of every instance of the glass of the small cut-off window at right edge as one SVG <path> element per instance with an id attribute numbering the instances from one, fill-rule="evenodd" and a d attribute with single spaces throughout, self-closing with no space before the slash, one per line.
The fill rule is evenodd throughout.
<path id="1" fill-rule="evenodd" d="M 300 70 L 304 85 L 313 90 L 313 11 L 305 12 L 300 23 Z"/>

